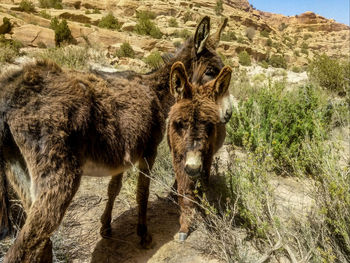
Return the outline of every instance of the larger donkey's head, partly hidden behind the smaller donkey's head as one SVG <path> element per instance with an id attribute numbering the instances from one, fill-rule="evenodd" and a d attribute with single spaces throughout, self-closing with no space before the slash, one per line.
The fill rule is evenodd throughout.
<path id="1" fill-rule="evenodd" d="M 210 18 L 205 16 L 198 24 L 194 37 L 188 39 L 178 53 L 178 60 L 183 62 L 188 76 L 194 75 L 197 65 L 206 65 L 201 78 L 197 79 L 199 85 L 213 80 L 224 67 L 216 48 L 226 25 L 227 18 L 214 34 L 210 34 Z M 228 90 L 218 98 L 218 105 L 220 105 L 220 122 L 227 123 L 232 115 L 232 101 Z"/>

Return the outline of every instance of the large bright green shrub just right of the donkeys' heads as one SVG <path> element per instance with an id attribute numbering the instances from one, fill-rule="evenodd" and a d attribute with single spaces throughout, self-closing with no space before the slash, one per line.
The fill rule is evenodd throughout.
<path id="1" fill-rule="evenodd" d="M 282 171 L 297 162 L 310 171 L 304 142 L 319 143 L 326 138 L 329 114 L 313 86 L 284 92 L 284 84 L 255 90 L 241 101 L 228 125 L 228 138 L 262 158 L 272 156 Z"/>

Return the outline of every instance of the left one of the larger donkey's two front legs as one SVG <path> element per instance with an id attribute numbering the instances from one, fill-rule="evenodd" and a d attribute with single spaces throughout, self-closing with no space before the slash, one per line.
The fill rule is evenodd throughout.
<path id="1" fill-rule="evenodd" d="M 123 173 L 120 173 L 116 176 L 112 176 L 111 180 L 108 184 L 108 201 L 106 204 L 105 211 L 103 212 L 101 216 L 101 223 L 102 227 L 100 230 L 100 234 L 102 237 L 110 236 L 112 234 L 111 229 L 111 220 L 112 220 L 112 210 L 115 198 L 120 192 L 120 189 L 122 187 L 122 179 L 123 179 Z"/>

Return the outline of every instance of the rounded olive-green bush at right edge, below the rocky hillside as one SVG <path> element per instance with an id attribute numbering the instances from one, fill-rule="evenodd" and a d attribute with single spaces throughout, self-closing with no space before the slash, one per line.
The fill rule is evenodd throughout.
<path id="1" fill-rule="evenodd" d="M 349 78 L 346 64 L 342 65 L 336 59 L 326 54 L 315 56 L 307 70 L 309 78 L 326 89 L 344 92 L 346 79 Z"/>

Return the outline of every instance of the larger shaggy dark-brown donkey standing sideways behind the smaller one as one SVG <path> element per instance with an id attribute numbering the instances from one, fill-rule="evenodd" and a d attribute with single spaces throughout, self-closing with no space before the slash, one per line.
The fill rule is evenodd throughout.
<path id="1" fill-rule="evenodd" d="M 207 63 L 202 81 L 223 67 L 215 48 L 220 33 L 209 35 L 209 17 L 199 23 L 194 38 L 154 73 L 87 74 L 63 71 L 38 60 L 0 77 L 0 236 L 10 229 L 7 183 L 23 201 L 27 219 L 4 262 L 51 262 L 50 236 L 59 226 L 82 175 L 113 176 L 102 229 L 110 228 L 113 202 L 122 173 L 138 163 L 141 170 L 137 202 L 137 233 L 147 246 L 146 210 L 149 169 L 165 132 L 174 97 L 169 72 L 182 61 Z M 230 115 L 222 102 L 222 121 Z"/>

